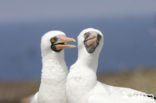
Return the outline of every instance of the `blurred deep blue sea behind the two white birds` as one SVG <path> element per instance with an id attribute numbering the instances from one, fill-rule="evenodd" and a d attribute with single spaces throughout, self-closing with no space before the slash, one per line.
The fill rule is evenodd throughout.
<path id="1" fill-rule="evenodd" d="M 62 30 L 76 38 L 88 27 L 100 29 L 104 34 L 98 73 L 156 66 L 156 32 L 153 32 L 156 18 L 153 17 L 1 22 L 0 80 L 39 80 L 41 36 L 49 30 Z M 70 66 L 77 58 L 77 48 L 67 49 L 65 56 Z"/>

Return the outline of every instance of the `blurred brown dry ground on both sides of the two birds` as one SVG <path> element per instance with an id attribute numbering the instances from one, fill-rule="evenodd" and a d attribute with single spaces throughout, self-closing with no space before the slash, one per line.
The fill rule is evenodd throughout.
<path id="1" fill-rule="evenodd" d="M 102 74 L 98 76 L 98 80 L 156 95 L 156 69 Z M 0 103 L 19 103 L 21 98 L 35 93 L 38 87 L 38 81 L 0 82 Z"/>

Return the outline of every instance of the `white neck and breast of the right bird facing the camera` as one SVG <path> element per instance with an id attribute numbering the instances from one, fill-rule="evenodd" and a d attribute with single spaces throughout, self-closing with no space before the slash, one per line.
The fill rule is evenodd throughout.
<path id="1" fill-rule="evenodd" d="M 66 91 L 69 103 L 87 103 L 84 99 L 97 83 L 96 69 L 98 56 L 78 51 L 78 59 L 70 67 L 67 77 Z"/>

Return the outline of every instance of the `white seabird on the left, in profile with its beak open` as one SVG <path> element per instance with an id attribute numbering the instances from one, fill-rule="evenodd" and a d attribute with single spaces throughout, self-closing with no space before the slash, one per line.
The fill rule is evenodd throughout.
<path id="1" fill-rule="evenodd" d="M 41 84 L 31 103 L 67 103 L 65 83 L 68 69 L 63 49 L 75 47 L 66 44 L 69 41 L 75 40 L 61 31 L 50 31 L 42 36 Z"/>

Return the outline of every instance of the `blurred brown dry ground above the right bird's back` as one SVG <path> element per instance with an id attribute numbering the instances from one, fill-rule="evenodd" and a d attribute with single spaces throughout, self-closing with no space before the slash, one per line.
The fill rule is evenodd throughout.
<path id="1" fill-rule="evenodd" d="M 156 95 L 156 69 L 103 74 L 98 80 L 114 86 L 133 88 Z"/>

